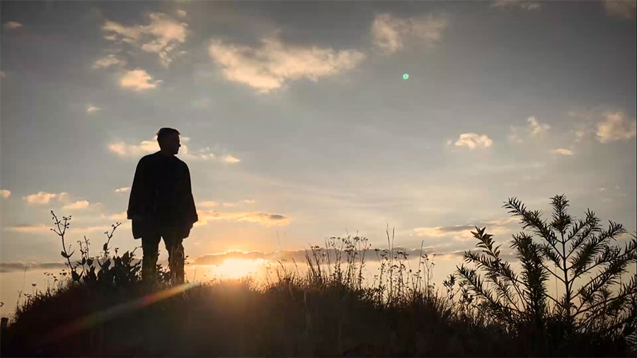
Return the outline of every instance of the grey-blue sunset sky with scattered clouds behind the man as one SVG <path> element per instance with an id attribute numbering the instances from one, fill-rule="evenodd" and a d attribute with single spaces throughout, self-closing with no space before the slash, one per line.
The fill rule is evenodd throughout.
<path id="1" fill-rule="evenodd" d="M 331 236 L 387 248 L 389 227 L 451 272 L 474 226 L 501 243 L 522 230 L 510 197 L 549 217 L 565 194 L 571 214 L 637 230 L 635 1 L 0 10 L 3 313 L 63 268 L 51 211 L 72 216 L 73 248 L 86 236 L 97 254 L 117 222 L 113 247 L 140 245 L 130 185 L 161 127 L 190 168 L 195 266 L 298 258 Z"/>

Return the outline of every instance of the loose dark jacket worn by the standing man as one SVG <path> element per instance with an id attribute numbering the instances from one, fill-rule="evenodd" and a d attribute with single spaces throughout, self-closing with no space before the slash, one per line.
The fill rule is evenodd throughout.
<path id="1" fill-rule="evenodd" d="M 159 151 L 139 159 L 128 201 L 133 238 L 141 238 L 151 226 L 171 226 L 187 238 L 197 210 L 190 186 L 188 165 Z"/>

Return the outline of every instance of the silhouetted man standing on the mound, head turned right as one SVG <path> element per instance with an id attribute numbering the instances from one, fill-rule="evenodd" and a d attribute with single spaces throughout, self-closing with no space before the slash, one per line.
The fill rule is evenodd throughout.
<path id="1" fill-rule="evenodd" d="M 127 218 L 132 219 L 133 238 L 142 238 L 142 280 L 147 284 L 156 279 L 162 237 L 168 250 L 171 282 L 183 283 L 182 241 L 198 219 L 190 171 L 174 156 L 181 146 L 179 135 L 177 129 L 159 129 L 161 150 L 139 160 L 130 190 Z"/>

